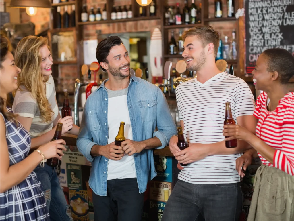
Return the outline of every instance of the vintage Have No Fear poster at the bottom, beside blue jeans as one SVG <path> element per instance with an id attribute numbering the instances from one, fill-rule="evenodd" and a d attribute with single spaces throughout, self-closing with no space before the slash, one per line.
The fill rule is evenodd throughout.
<path id="1" fill-rule="evenodd" d="M 71 215 L 74 221 L 89 220 L 88 193 L 85 190 L 69 189 Z"/>

